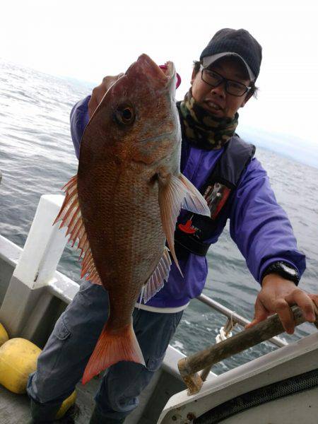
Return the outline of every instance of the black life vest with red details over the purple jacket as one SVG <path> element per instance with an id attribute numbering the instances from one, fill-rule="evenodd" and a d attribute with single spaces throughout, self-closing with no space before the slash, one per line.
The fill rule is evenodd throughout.
<path id="1" fill-rule="evenodd" d="M 179 111 L 179 103 L 177 108 Z M 180 120 L 182 122 L 181 117 Z M 183 131 L 182 137 L 184 137 Z M 188 212 L 178 220 L 175 230 L 177 256 L 182 257 L 189 252 L 206 256 L 211 243 L 205 240 L 210 239 L 216 232 L 223 208 L 230 203 L 240 177 L 252 160 L 255 150 L 254 145 L 246 143 L 237 134 L 225 144 L 222 155 L 200 190 L 210 208 L 211 218 Z"/>

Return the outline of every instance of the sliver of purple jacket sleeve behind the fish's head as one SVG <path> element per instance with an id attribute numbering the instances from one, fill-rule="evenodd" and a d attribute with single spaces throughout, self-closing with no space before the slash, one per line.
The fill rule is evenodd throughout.
<path id="1" fill-rule="evenodd" d="M 81 146 L 81 139 L 83 136 L 84 129 L 88 124 L 88 102 L 90 95 L 87 98 L 79 101 L 73 106 L 71 110 L 71 136 L 73 145 L 75 148 L 76 158 L 79 157 L 79 151 Z"/>

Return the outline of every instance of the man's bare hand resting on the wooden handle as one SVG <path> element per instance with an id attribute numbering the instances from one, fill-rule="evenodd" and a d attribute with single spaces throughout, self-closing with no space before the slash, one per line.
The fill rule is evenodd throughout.
<path id="1" fill-rule="evenodd" d="M 309 322 L 315 321 L 314 313 L 318 315 L 318 295 L 310 295 L 298 288 L 293 281 L 285 280 L 275 273 L 264 277 L 261 291 L 255 302 L 253 321 L 249 328 L 263 321 L 269 315 L 278 314 L 283 327 L 288 334 L 293 334 L 295 322 L 290 306 L 298 305 Z"/>

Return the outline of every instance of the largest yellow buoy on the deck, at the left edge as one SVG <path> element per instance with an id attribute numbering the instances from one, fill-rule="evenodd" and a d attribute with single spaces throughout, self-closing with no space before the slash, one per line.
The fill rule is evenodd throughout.
<path id="1" fill-rule="evenodd" d="M 41 349 L 24 338 L 11 338 L 0 347 L 0 384 L 13 393 L 25 393 L 28 376 L 37 367 Z"/>

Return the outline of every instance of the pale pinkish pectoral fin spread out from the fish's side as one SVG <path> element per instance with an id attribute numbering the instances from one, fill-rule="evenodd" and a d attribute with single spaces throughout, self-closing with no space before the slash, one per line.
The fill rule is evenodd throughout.
<path id="1" fill-rule="evenodd" d="M 179 174 L 179 177 L 168 175 L 165 178 L 159 175 L 159 205 L 161 223 L 167 238 L 167 244 L 182 275 L 175 254 L 174 243 L 175 225 L 180 210 L 184 208 L 205 216 L 211 216 L 211 212 L 199 190 L 182 174 Z"/>

